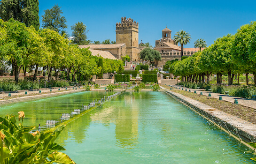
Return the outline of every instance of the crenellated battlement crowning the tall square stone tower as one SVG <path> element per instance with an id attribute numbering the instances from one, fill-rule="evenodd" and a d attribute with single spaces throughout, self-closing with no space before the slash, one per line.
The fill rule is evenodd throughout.
<path id="1" fill-rule="evenodd" d="M 139 22 L 133 21 L 132 18 L 122 17 L 121 23 L 116 23 L 116 30 L 130 30 L 132 28 L 139 29 Z"/>

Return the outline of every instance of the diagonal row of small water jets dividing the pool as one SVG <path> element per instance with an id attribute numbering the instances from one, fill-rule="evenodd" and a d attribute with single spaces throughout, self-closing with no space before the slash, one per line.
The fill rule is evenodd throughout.
<path id="1" fill-rule="evenodd" d="M 130 87 L 131 88 L 131 87 Z M 91 102 L 90 104 L 88 105 L 84 105 L 82 104 L 82 109 L 75 109 L 73 110 L 71 113 L 62 113 L 62 117 L 61 117 L 61 121 L 62 120 L 69 120 L 70 117 L 73 117 L 73 115 L 76 115 L 76 114 L 80 114 L 81 112 L 83 111 L 86 111 L 86 110 L 89 110 L 90 108 L 94 107 L 96 104 L 99 104 L 101 106 L 102 103 L 104 103 L 105 101 L 111 101 L 112 98 L 116 98 L 118 95 L 120 95 L 122 92 L 117 92 L 113 95 L 110 95 L 108 97 L 102 97 L 101 99 L 96 99 L 96 100 L 93 100 L 93 102 Z M 56 120 L 47 120 L 46 121 L 46 125 L 47 125 L 47 128 L 52 128 L 52 127 L 55 127 L 55 124 L 58 123 L 59 121 L 56 121 Z M 39 130 L 41 129 L 40 127 L 40 124 L 39 124 Z"/>

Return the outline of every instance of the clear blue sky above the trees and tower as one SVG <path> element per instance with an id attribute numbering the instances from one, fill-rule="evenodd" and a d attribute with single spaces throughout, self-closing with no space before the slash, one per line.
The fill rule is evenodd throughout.
<path id="1" fill-rule="evenodd" d="M 88 39 L 92 41 L 116 40 L 116 22 L 131 17 L 139 22 L 139 41 L 155 46 L 167 26 L 172 37 L 179 30 L 191 35 L 185 48 L 194 47 L 202 38 L 207 45 L 218 37 L 235 34 L 241 25 L 256 21 L 256 0 L 39 0 L 39 17 L 42 24 L 44 10 L 55 4 L 62 7 L 71 35 L 71 26 L 83 22 Z"/>

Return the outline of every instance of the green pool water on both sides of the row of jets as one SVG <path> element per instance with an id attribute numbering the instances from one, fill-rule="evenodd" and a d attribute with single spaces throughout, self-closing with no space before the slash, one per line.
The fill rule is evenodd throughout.
<path id="1" fill-rule="evenodd" d="M 1 106 L 43 124 L 109 92 L 79 92 Z M 126 92 L 72 121 L 56 140 L 77 164 L 247 164 L 253 151 L 164 92 Z"/>

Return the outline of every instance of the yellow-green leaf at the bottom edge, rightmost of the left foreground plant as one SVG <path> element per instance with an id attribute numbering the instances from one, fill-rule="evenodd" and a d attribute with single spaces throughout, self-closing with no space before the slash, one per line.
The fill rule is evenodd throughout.
<path id="1" fill-rule="evenodd" d="M 48 158 L 51 160 L 51 162 L 60 164 L 76 164 L 68 155 L 62 152 L 55 151 L 54 153 L 50 154 Z"/>

